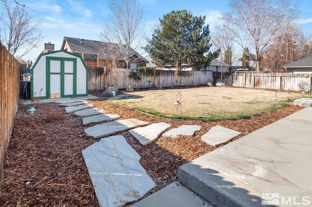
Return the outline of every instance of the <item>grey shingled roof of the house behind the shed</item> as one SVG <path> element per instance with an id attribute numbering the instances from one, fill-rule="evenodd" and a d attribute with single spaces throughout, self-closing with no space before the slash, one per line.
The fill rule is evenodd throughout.
<path id="1" fill-rule="evenodd" d="M 101 60 L 111 60 L 112 59 L 112 51 L 114 51 L 114 58 L 116 60 L 124 60 L 120 52 L 118 52 L 118 44 L 110 43 L 110 42 L 102 42 L 97 40 L 90 39 L 81 39 L 74 37 L 64 37 L 62 47 L 63 50 L 65 47 L 65 42 L 68 44 L 69 48 L 72 52 L 85 52 L 85 53 L 94 53 L 99 54 L 99 58 Z M 140 60 L 148 63 L 144 57 L 142 57 L 139 53 L 137 53 L 134 49 L 130 49 L 131 53 L 136 55 Z"/>

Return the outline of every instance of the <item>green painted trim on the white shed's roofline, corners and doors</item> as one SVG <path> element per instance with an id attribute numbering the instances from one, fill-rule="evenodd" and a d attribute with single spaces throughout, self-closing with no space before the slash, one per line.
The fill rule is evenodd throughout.
<path id="1" fill-rule="evenodd" d="M 46 55 L 49 55 L 49 54 L 53 54 L 53 53 L 58 53 L 58 52 L 65 52 L 65 53 L 67 53 L 67 54 L 70 54 L 70 55 L 72 55 L 72 56 L 74 56 L 75 58 L 69 58 L 69 57 L 46 57 L 46 62 L 45 62 L 45 67 L 46 67 L 46 96 L 41 96 L 41 97 L 38 97 L 38 98 L 40 98 L 40 99 L 48 99 L 48 98 L 50 98 L 50 96 L 51 96 L 51 94 L 50 94 L 50 76 L 49 76 L 49 72 L 50 72 L 50 66 L 49 66 L 49 64 L 48 64 L 48 59 L 52 59 L 52 60 L 60 60 L 60 59 L 62 59 L 62 60 L 64 60 L 64 61 L 66 61 L 66 59 L 69 59 L 70 61 L 72 61 L 72 60 L 75 60 L 74 61 L 74 65 L 73 65 L 73 67 L 74 67 L 74 77 L 73 77 L 73 95 L 64 95 L 63 94 L 63 96 L 64 97 L 78 97 L 78 96 L 87 96 L 88 95 L 88 75 L 89 75 L 89 70 L 87 69 L 87 67 L 86 67 L 86 65 L 84 64 L 84 62 L 83 62 L 83 60 L 82 60 L 82 57 L 80 57 L 80 56 L 78 56 L 78 55 L 76 55 L 76 54 L 73 54 L 73 53 L 71 53 L 71 52 L 67 52 L 67 51 L 63 51 L 63 50 L 59 50 L 59 51 L 53 51 L 53 52 L 47 52 L 47 53 L 42 53 L 42 54 L 40 54 L 39 56 L 38 56 L 38 58 L 37 58 L 37 60 L 36 60 L 36 62 L 34 63 L 34 65 L 32 65 L 32 67 L 31 67 L 31 69 L 29 70 L 29 73 L 30 74 L 32 74 L 32 75 L 34 75 L 34 69 L 36 68 L 36 66 L 37 66 L 37 64 L 38 64 L 38 62 L 39 62 L 39 60 L 42 58 L 42 57 L 44 57 L 44 56 L 46 56 Z M 84 67 L 84 69 L 86 70 L 86 93 L 85 94 L 79 94 L 79 95 L 77 95 L 77 58 L 79 58 L 80 59 L 80 61 L 81 61 L 81 63 L 82 63 L 82 65 L 83 65 L 83 67 Z M 61 67 L 62 67 L 62 64 L 61 64 Z M 64 65 L 63 65 L 63 68 L 64 68 Z M 59 74 L 59 73 L 51 73 L 51 74 Z M 64 73 L 64 74 L 67 74 L 67 73 Z M 69 74 L 72 74 L 72 73 L 69 73 Z M 64 77 L 63 77 L 64 78 Z M 32 79 L 33 79 L 33 77 L 32 77 Z M 61 93 L 64 93 L 64 90 L 62 90 L 62 85 L 63 85 L 63 87 L 64 87 L 64 81 L 62 82 L 62 76 L 61 76 Z M 33 83 L 33 80 L 32 80 L 32 82 L 31 82 L 31 99 L 33 99 L 34 98 L 34 83 Z M 62 94 L 61 94 L 61 98 L 63 98 L 62 97 Z"/>

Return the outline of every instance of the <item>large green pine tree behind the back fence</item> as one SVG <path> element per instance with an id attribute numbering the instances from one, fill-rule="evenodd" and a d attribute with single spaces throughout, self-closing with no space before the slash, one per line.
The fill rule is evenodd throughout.
<path id="1" fill-rule="evenodd" d="M 160 27 L 154 30 L 152 39 L 144 48 L 158 66 L 177 68 L 188 64 L 193 69 L 208 66 L 218 52 L 209 52 L 212 46 L 209 26 L 204 26 L 205 16 L 193 17 L 186 10 L 172 11 L 159 18 Z"/>

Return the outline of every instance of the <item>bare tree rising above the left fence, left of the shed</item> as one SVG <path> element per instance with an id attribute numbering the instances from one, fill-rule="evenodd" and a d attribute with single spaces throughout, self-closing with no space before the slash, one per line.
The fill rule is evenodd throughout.
<path id="1" fill-rule="evenodd" d="M 39 29 L 41 20 L 32 21 L 33 17 L 27 13 L 27 6 L 18 2 L 12 8 L 8 0 L 2 0 L 2 8 L 0 26 L 3 44 L 11 54 L 20 52 L 19 56 L 22 57 L 38 46 L 42 38 Z"/>

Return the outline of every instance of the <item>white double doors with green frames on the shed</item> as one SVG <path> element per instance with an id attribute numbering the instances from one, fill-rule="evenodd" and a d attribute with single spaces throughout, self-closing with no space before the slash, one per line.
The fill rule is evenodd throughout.
<path id="1" fill-rule="evenodd" d="M 47 57 L 49 98 L 76 96 L 76 58 Z"/>

